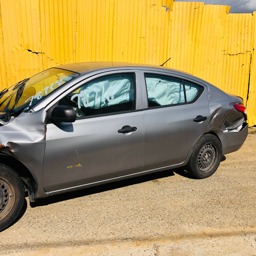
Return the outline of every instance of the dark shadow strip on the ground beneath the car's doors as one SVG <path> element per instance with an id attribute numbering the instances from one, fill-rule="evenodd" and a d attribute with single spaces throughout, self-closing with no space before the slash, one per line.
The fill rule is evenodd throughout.
<path id="1" fill-rule="evenodd" d="M 66 200 L 70 200 L 73 198 L 85 196 L 85 195 L 98 194 L 101 192 L 105 192 L 105 191 L 109 191 L 109 190 L 113 190 L 113 189 L 117 189 L 117 188 L 121 188 L 121 187 L 126 187 L 126 186 L 130 186 L 130 185 L 134 185 L 134 184 L 139 184 L 139 183 L 153 181 L 153 180 L 157 180 L 157 179 L 161 179 L 161 178 L 165 178 L 165 177 L 174 176 L 175 173 L 178 175 L 181 175 L 183 177 L 189 178 L 189 179 L 194 179 L 190 174 L 187 173 L 187 171 L 184 170 L 184 168 L 177 168 L 177 169 L 172 169 L 172 170 L 150 173 L 150 174 L 146 174 L 143 176 L 125 179 L 122 181 L 98 185 L 95 187 L 85 188 L 82 190 L 68 192 L 68 193 L 61 194 L 61 195 L 55 195 L 55 196 L 51 196 L 51 197 L 47 197 L 47 198 L 42 198 L 36 202 L 30 203 L 30 206 L 31 207 L 39 207 L 39 206 L 50 205 L 50 204 L 54 204 L 57 202 L 66 201 Z"/>

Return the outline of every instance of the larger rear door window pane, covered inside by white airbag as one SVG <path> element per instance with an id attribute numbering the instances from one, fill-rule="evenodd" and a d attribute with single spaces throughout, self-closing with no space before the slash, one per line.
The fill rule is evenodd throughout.
<path id="1" fill-rule="evenodd" d="M 145 74 L 148 107 L 185 102 L 183 80 L 169 76 Z"/>

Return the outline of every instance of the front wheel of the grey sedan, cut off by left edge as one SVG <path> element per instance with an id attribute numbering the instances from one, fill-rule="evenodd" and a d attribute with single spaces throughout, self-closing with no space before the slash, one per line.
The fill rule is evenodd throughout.
<path id="1" fill-rule="evenodd" d="M 24 184 L 10 167 L 0 164 L 0 232 L 19 216 L 25 199 Z"/>

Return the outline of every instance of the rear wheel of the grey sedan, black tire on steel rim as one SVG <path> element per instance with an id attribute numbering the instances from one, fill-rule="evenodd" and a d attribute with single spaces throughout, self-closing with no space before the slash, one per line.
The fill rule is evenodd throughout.
<path id="1" fill-rule="evenodd" d="M 195 146 L 186 170 L 196 179 L 210 177 L 219 167 L 222 145 L 219 138 L 204 134 Z"/>

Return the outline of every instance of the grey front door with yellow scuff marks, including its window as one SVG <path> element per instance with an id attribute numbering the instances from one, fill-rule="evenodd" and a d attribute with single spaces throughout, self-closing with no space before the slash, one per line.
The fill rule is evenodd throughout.
<path id="1" fill-rule="evenodd" d="M 135 111 L 134 73 L 100 77 L 59 105 L 73 107 L 77 119 L 47 125 L 45 191 L 119 177 L 144 166 L 144 113 Z"/>

